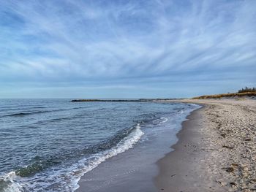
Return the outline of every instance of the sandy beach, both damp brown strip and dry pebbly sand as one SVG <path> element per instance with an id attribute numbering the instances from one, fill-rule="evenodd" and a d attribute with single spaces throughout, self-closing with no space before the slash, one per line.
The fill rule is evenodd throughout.
<path id="1" fill-rule="evenodd" d="M 159 191 L 256 191 L 256 100 L 184 99 L 189 115 L 157 164 Z"/>

